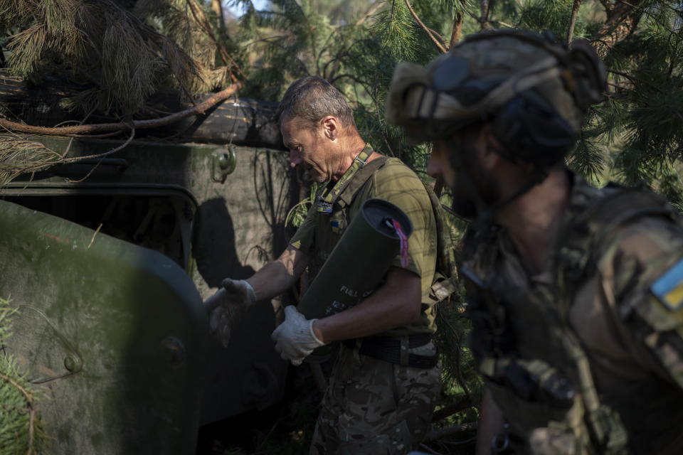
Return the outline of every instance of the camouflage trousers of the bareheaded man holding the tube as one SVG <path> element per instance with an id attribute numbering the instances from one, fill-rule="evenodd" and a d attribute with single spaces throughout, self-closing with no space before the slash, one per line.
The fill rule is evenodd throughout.
<path id="1" fill-rule="evenodd" d="M 440 364 L 430 369 L 403 367 L 342 346 L 310 454 L 408 453 L 429 428 L 440 393 L 440 370 Z"/>

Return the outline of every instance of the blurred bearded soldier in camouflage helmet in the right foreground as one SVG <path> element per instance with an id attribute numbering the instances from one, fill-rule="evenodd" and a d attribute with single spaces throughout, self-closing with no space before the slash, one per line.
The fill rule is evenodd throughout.
<path id="1" fill-rule="evenodd" d="M 472 219 L 460 268 L 486 391 L 477 454 L 679 454 L 683 228 L 646 191 L 568 171 L 603 64 L 482 32 L 395 70 L 386 116 Z"/>

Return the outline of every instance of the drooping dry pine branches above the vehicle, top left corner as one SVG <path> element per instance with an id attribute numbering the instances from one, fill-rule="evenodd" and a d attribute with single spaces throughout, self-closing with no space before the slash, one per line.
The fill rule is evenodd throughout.
<path id="1" fill-rule="evenodd" d="M 134 9 L 127 3 L 0 0 L 6 69 L 33 82 L 44 74 L 68 77 L 85 88 L 65 107 L 122 117 L 164 87 L 191 95 L 226 85 L 234 61 L 201 1 L 139 0 Z"/>

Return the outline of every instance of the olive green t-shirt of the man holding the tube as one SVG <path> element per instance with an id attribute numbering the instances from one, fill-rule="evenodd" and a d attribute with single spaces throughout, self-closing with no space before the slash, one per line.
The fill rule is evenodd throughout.
<path id="1" fill-rule="evenodd" d="M 354 195 L 351 204 L 346 208 L 346 216 L 335 205 L 332 214 L 318 213 L 312 207 L 306 220 L 295 233 L 290 245 L 312 257 L 310 265 L 312 273 L 317 274 L 329 254 L 344 235 L 344 228 L 359 214 L 363 203 L 370 198 L 386 200 L 403 210 L 413 224 L 413 234 L 408 237 L 408 266 L 401 266 L 401 257 L 397 255 L 391 265 L 410 270 L 420 277 L 422 284 L 423 311 L 420 319 L 408 326 L 401 326 L 381 335 L 404 335 L 408 333 L 433 333 L 435 326 L 435 301 L 430 299 L 430 287 L 434 280 L 437 232 L 436 222 L 429 196 L 424 184 L 408 166 L 397 158 L 389 158 L 364 186 Z M 338 221 L 332 228 L 331 219 Z M 371 262 L 371 252 L 359 252 L 359 263 Z"/>

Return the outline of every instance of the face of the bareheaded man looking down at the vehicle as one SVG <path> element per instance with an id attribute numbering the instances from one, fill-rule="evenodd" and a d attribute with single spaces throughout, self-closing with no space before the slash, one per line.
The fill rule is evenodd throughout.
<path id="1" fill-rule="evenodd" d="M 320 129 L 311 130 L 290 119 L 280 125 L 282 142 L 290 149 L 292 167 L 302 166 L 314 181 L 322 183 L 331 178 L 331 155 L 327 138 Z"/>

